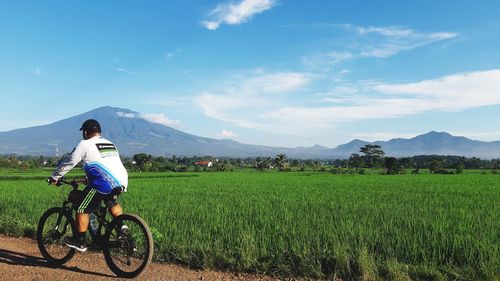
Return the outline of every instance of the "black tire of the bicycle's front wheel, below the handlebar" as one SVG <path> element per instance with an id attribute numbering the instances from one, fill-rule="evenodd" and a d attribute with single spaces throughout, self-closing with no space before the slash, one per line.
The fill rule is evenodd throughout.
<path id="1" fill-rule="evenodd" d="M 69 232 L 68 233 L 57 232 L 58 234 L 55 235 L 55 233 L 49 234 L 49 233 L 44 232 L 44 229 L 45 229 L 45 226 L 46 226 L 48 219 L 53 215 L 56 215 L 57 218 L 59 218 L 59 216 L 62 216 L 61 219 L 64 218 L 65 221 L 68 222 L 68 225 L 70 226 L 71 233 L 69 233 Z M 58 231 L 58 228 L 61 226 L 62 223 L 63 223 L 63 221 L 61 220 L 59 222 L 59 225 L 57 227 L 55 227 L 54 230 Z M 66 225 L 66 227 L 68 225 Z M 67 232 L 68 230 L 63 229 L 63 231 Z M 37 226 L 36 240 L 38 243 L 38 249 L 40 250 L 40 253 L 47 260 L 47 262 L 49 262 L 49 264 L 55 265 L 55 266 L 63 265 L 66 262 L 68 262 L 71 258 L 73 258 L 76 250 L 73 248 L 67 247 L 66 245 L 64 245 L 64 242 L 63 242 L 64 237 L 73 235 L 73 233 L 76 233 L 75 220 L 73 219 L 73 217 L 71 216 L 70 213 L 68 213 L 67 211 L 65 211 L 62 208 L 54 207 L 54 208 L 48 209 L 40 217 L 40 220 L 38 221 L 38 226 Z M 55 245 L 55 247 L 57 247 L 57 249 L 60 249 L 62 251 L 63 255 L 61 257 L 56 257 L 53 253 L 51 253 L 51 251 L 48 250 L 48 247 L 47 247 L 48 245 L 46 245 L 46 243 L 45 243 L 45 240 L 47 239 L 47 237 L 45 237 L 44 234 L 49 235 L 49 237 L 48 237 L 49 239 L 52 239 L 52 238 L 55 239 L 55 240 L 51 240 L 51 242 L 55 242 L 55 243 L 52 243 L 52 245 L 53 246 Z M 56 237 L 56 236 L 60 236 L 60 237 Z"/>

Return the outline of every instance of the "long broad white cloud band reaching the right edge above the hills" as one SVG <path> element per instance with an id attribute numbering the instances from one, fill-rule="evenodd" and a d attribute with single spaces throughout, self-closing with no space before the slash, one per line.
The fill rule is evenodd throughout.
<path id="1" fill-rule="evenodd" d="M 368 86 L 370 85 L 370 86 Z M 267 132 L 304 133 L 357 120 L 398 118 L 430 111 L 500 105 L 500 69 L 459 73 L 406 84 L 367 82 L 362 95 L 330 96 L 328 105 L 293 105 L 275 95 L 205 95 L 207 116 Z M 370 87 L 367 89 L 366 87 Z M 342 89 L 340 89 L 342 91 Z"/>

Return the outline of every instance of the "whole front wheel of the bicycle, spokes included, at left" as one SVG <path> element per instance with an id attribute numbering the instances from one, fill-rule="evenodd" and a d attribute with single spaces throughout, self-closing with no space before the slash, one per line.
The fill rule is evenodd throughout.
<path id="1" fill-rule="evenodd" d="M 75 249 L 64 244 L 64 238 L 76 233 L 71 214 L 62 208 L 47 210 L 38 221 L 36 240 L 43 257 L 53 265 L 62 265 L 75 255 Z"/>

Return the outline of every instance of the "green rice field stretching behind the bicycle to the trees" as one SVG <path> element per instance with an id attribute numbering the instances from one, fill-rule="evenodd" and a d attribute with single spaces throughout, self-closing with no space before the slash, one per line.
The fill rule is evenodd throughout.
<path id="1" fill-rule="evenodd" d="M 0 174 L 0 232 L 34 237 L 67 194 L 48 174 Z M 281 277 L 500 279 L 500 175 L 137 173 L 120 199 L 148 222 L 159 261 Z"/>

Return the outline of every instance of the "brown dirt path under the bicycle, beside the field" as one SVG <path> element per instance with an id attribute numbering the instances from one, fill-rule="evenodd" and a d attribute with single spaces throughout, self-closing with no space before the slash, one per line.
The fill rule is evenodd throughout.
<path id="1" fill-rule="evenodd" d="M 66 265 L 51 268 L 35 240 L 0 236 L 0 280 L 120 280 L 108 269 L 101 253 L 77 253 Z M 126 279 L 129 280 L 129 279 Z M 268 276 L 195 271 L 153 263 L 139 280 L 276 280 Z"/>

